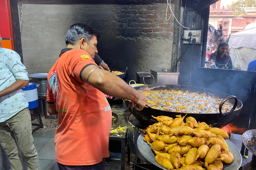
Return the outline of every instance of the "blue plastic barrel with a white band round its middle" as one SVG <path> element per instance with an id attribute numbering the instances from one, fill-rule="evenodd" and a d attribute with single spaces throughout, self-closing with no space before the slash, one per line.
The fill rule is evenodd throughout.
<path id="1" fill-rule="evenodd" d="M 25 93 L 25 97 L 28 101 L 28 109 L 34 109 L 38 107 L 38 95 L 36 83 L 29 83 L 26 87 L 22 88 Z"/>

